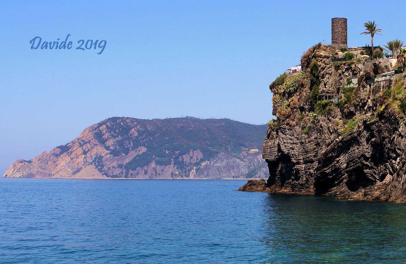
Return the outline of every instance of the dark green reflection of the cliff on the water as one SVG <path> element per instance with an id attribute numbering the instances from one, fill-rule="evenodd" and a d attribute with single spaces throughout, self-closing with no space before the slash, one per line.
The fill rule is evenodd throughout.
<path id="1" fill-rule="evenodd" d="M 264 263 L 405 263 L 406 205 L 269 194 Z"/>

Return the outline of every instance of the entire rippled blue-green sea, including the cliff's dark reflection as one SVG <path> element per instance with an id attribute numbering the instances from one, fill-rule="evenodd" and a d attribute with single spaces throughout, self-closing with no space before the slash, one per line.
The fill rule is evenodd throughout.
<path id="1" fill-rule="evenodd" d="M 406 204 L 246 180 L 0 179 L 0 263 L 406 263 Z"/>

